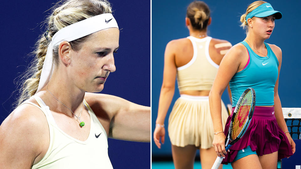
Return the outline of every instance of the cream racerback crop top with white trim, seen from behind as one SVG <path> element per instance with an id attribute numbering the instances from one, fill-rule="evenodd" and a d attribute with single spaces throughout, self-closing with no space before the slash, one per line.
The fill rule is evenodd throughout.
<path id="1" fill-rule="evenodd" d="M 193 45 L 193 58 L 184 66 L 177 68 L 179 91 L 211 90 L 219 65 L 209 56 L 211 37 L 202 39 L 187 37 Z"/>

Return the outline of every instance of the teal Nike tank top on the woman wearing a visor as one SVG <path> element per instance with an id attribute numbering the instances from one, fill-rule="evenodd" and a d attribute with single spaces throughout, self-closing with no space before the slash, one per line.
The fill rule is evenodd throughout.
<path id="1" fill-rule="evenodd" d="M 232 93 L 232 107 L 237 104 L 240 95 L 249 87 L 256 93 L 256 106 L 274 105 L 274 87 L 278 78 L 278 59 L 270 46 L 264 43 L 267 48 L 267 57 L 257 55 L 245 42 L 249 53 L 249 63 L 240 72 L 235 73 L 230 80 Z"/>

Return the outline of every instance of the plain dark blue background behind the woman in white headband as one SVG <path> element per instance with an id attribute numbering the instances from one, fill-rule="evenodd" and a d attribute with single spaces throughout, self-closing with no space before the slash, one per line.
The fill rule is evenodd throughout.
<path id="1" fill-rule="evenodd" d="M 23 73 L 32 57 L 41 24 L 55 0 L 2 1 L 0 123 L 13 110 L 15 78 Z M 101 93 L 150 106 L 150 1 L 110 0 L 120 30 L 120 48 L 114 54 L 116 72 L 111 73 Z M 108 139 L 114 168 L 150 168 L 150 143 Z"/>

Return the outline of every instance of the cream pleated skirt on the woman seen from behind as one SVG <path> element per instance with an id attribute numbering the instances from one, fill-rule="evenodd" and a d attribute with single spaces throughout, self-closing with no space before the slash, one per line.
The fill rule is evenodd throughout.
<path id="1" fill-rule="evenodd" d="M 222 101 L 223 128 L 228 116 Z M 168 134 L 172 145 L 195 145 L 207 149 L 213 146 L 213 133 L 209 97 L 181 95 L 175 102 L 168 120 Z"/>

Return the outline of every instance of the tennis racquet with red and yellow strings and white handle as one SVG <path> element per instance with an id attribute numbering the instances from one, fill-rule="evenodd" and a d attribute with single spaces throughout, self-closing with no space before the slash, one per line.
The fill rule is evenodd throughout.
<path id="1" fill-rule="evenodd" d="M 240 96 L 231 118 L 228 139 L 225 142 L 226 151 L 247 131 L 255 108 L 255 98 L 255 90 L 253 88 L 246 89 Z M 211 169 L 219 168 L 222 161 L 222 157 L 217 157 Z"/>

